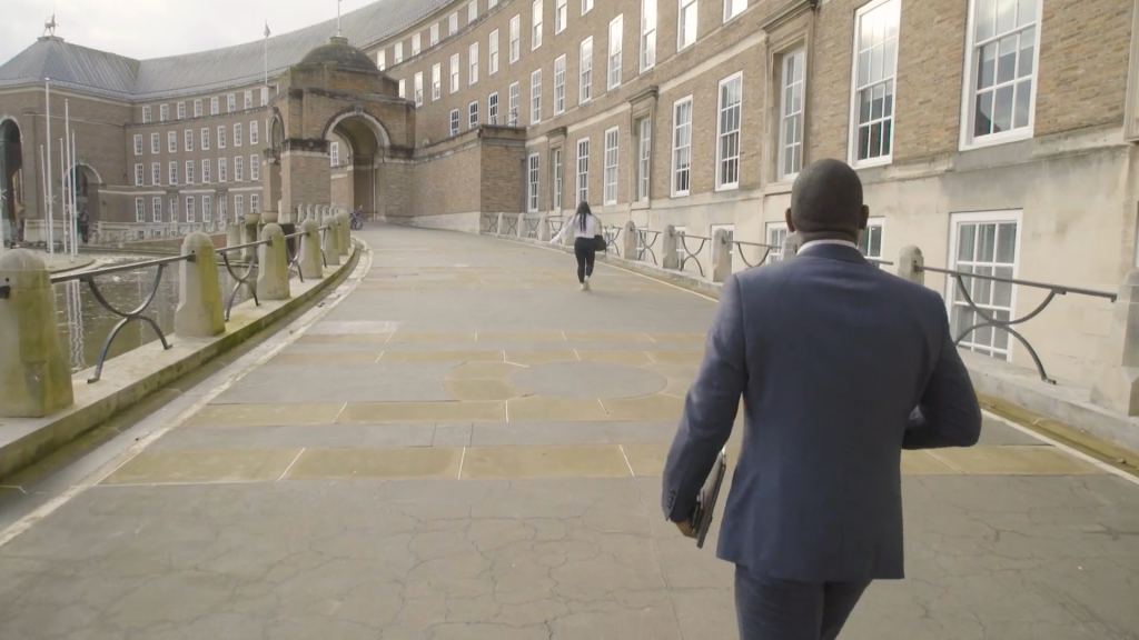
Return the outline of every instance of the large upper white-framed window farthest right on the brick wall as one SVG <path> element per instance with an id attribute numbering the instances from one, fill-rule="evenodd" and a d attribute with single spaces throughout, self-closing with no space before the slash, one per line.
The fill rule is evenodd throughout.
<path id="1" fill-rule="evenodd" d="M 961 147 L 1032 137 L 1040 0 L 970 0 Z"/>

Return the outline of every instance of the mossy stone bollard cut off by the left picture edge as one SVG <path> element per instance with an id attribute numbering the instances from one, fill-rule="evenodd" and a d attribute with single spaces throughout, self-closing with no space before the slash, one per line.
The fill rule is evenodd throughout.
<path id="1" fill-rule="evenodd" d="M 0 417 L 42 418 L 75 403 L 43 260 L 27 249 L 0 257 Z"/>

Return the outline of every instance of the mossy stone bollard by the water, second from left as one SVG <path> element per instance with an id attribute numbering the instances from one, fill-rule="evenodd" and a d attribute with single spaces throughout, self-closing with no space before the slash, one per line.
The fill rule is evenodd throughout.
<path id="1" fill-rule="evenodd" d="M 183 338 L 212 338 L 226 331 L 213 240 L 205 233 L 190 233 L 182 241 L 182 255 L 192 255 L 194 262 L 178 263 L 174 334 Z"/>

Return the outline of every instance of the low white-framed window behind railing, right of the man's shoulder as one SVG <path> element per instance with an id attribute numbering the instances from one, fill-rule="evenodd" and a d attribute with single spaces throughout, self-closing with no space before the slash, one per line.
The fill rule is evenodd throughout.
<path id="1" fill-rule="evenodd" d="M 995 211 L 950 215 L 950 269 L 1016 278 L 1021 254 L 1019 227 L 1023 212 Z M 969 297 L 977 309 L 997 320 L 1010 320 L 1016 309 L 1016 287 L 1008 282 L 964 278 Z M 951 334 L 956 338 L 983 321 L 961 294 L 956 278 L 947 278 L 945 300 L 950 301 Z M 986 327 L 966 335 L 958 346 L 992 358 L 1008 360 L 1013 345 L 1007 331 Z"/>

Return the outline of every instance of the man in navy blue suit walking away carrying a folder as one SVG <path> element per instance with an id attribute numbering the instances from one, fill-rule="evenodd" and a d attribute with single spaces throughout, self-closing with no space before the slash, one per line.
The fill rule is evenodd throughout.
<path id="1" fill-rule="evenodd" d="M 664 512 L 690 535 L 743 396 L 718 556 L 736 564 L 744 640 L 837 638 L 870 581 L 903 576 L 902 450 L 981 434 L 944 302 L 867 263 L 868 215 L 846 164 L 800 174 L 787 229 L 802 248 L 724 282 L 669 452 Z"/>

